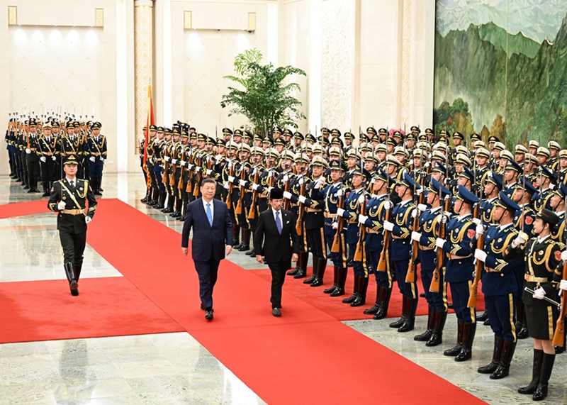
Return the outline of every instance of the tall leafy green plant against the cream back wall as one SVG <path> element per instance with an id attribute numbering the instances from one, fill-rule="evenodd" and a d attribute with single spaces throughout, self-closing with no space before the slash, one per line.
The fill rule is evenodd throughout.
<path id="1" fill-rule="evenodd" d="M 261 60 L 262 52 L 256 48 L 237 55 L 234 63 L 237 76 L 229 75 L 225 79 L 240 84 L 241 89 L 228 87 L 220 106 L 231 107 L 229 116 L 246 116 L 254 133 L 271 135 L 276 126 L 296 128 L 296 122 L 305 119 L 305 115 L 298 109 L 301 102 L 290 94 L 301 88 L 297 83 L 286 83 L 286 78 L 292 74 L 305 76 L 305 72 L 293 66 L 260 65 Z"/>

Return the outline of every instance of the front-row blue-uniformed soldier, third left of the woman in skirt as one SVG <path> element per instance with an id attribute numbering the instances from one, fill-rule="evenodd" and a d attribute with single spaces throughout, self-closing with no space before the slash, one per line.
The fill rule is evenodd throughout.
<path id="1" fill-rule="evenodd" d="M 425 299 L 429 308 L 427 316 L 427 331 L 414 337 L 414 340 L 427 342 L 427 346 L 437 346 L 442 343 L 443 328 L 447 320 L 447 289 L 444 282 L 444 267 L 439 270 L 439 292 L 430 292 L 434 272 L 437 271 L 437 252 L 435 244 L 439 235 L 439 227 L 444 226 L 444 207 L 442 201 L 449 198 L 449 190 L 437 180 L 431 179 L 427 188 L 427 204 L 419 204 L 420 232 L 412 232 L 412 240 L 420 244 L 421 280 Z"/>

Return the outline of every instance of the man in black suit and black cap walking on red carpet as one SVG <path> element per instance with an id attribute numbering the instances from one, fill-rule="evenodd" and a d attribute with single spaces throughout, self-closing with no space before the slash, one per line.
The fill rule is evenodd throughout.
<path id="1" fill-rule="evenodd" d="M 254 252 L 256 260 L 264 263 L 262 253 L 271 271 L 271 314 L 281 316 L 281 287 L 291 262 L 297 262 L 299 253 L 296 223 L 292 221 L 291 211 L 281 209 L 283 191 L 272 189 L 270 192 L 271 208 L 258 217 Z"/>

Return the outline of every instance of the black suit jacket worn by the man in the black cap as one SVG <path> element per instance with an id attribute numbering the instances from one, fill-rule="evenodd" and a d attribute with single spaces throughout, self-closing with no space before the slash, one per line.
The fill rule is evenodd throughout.
<path id="1" fill-rule="evenodd" d="M 291 260 L 292 253 L 299 252 L 296 222 L 291 211 L 281 209 L 281 235 L 276 226 L 276 218 L 271 208 L 266 209 L 258 217 L 258 226 L 254 239 L 256 255 L 266 257 L 267 263 Z"/>

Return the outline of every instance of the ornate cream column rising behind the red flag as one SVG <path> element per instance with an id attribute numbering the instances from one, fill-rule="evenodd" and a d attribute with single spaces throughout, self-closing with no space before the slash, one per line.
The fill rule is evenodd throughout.
<path id="1" fill-rule="evenodd" d="M 135 135 L 142 138 L 147 119 L 147 86 L 153 72 L 153 1 L 134 1 Z M 137 145 L 137 142 L 135 143 Z"/>

